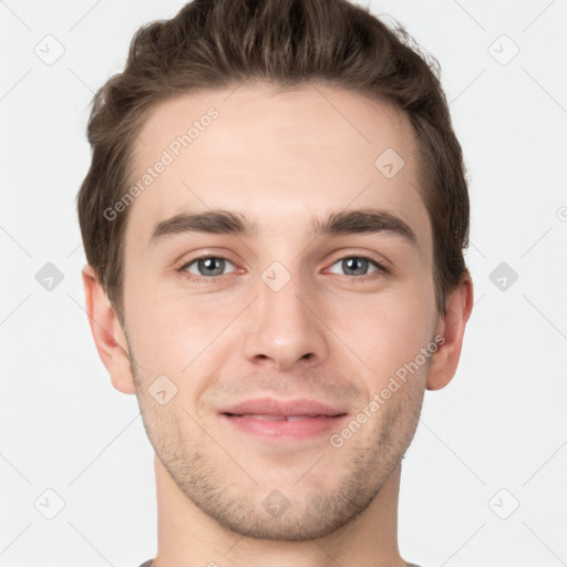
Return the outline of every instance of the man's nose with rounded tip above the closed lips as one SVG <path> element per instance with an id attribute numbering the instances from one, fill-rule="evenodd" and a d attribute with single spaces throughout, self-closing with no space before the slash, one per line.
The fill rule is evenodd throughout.
<path id="1" fill-rule="evenodd" d="M 293 276 L 279 290 L 258 282 L 247 313 L 245 357 L 255 364 L 288 371 L 319 364 L 328 355 L 328 333 L 309 286 Z"/>

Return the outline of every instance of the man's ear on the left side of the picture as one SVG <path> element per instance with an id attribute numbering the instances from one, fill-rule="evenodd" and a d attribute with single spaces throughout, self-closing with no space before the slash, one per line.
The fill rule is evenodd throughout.
<path id="1" fill-rule="evenodd" d="M 125 394 L 135 393 L 126 337 L 94 269 L 82 271 L 86 313 L 99 357 L 111 375 L 114 388 Z"/>

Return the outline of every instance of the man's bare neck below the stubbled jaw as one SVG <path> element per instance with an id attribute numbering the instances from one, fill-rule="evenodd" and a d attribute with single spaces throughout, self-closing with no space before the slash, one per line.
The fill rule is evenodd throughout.
<path id="1" fill-rule="evenodd" d="M 405 567 L 398 549 L 401 465 L 370 505 L 349 524 L 317 539 L 274 542 L 243 537 L 220 526 L 177 487 L 155 457 L 157 556 L 154 567 Z"/>

